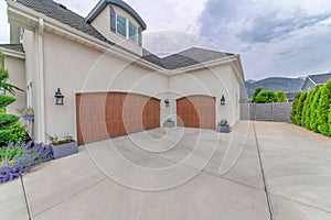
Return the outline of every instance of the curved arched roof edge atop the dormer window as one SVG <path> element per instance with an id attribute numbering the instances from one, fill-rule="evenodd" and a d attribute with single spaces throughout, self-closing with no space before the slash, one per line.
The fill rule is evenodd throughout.
<path id="1" fill-rule="evenodd" d="M 145 21 L 140 18 L 140 15 L 126 2 L 121 0 L 100 0 L 97 6 L 89 12 L 89 14 L 86 16 L 85 21 L 87 23 L 90 23 L 106 7 L 108 3 L 118 6 L 119 8 L 127 11 L 131 16 L 134 16 L 139 25 L 141 26 L 142 31 L 146 30 L 147 25 Z"/>

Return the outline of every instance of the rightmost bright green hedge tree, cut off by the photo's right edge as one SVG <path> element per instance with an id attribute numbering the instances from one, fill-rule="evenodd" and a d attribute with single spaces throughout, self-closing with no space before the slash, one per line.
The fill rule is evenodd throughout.
<path id="1" fill-rule="evenodd" d="M 324 135 L 331 135 L 331 133 L 329 133 L 330 106 L 331 106 L 331 80 L 329 80 L 321 88 L 320 101 L 317 108 L 318 123 L 319 123 L 318 130 Z"/>

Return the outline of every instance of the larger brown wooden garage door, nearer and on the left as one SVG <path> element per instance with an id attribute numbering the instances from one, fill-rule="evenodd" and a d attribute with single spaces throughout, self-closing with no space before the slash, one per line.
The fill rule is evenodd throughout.
<path id="1" fill-rule="evenodd" d="M 160 128 L 160 101 L 124 94 L 76 95 L 79 144 Z"/>

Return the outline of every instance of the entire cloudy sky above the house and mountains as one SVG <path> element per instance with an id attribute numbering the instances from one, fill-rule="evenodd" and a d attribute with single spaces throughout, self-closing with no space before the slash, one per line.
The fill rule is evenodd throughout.
<path id="1" fill-rule="evenodd" d="M 57 0 L 86 16 L 98 0 Z M 203 46 L 241 54 L 246 79 L 331 70 L 330 0 L 127 0 L 158 54 Z M 0 1 L 0 43 L 9 42 Z"/>

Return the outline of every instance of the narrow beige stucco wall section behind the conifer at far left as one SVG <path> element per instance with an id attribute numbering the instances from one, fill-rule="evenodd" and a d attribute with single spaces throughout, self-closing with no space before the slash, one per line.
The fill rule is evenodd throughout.
<path id="1" fill-rule="evenodd" d="M 4 68 L 9 72 L 8 82 L 23 89 L 24 91 L 17 91 L 13 96 L 17 101 L 7 107 L 7 112 L 12 114 L 19 114 L 17 109 L 26 107 L 25 98 L 25 62 L 21 58 L 12 56 L 4 57 Z M 7 92 L 8 96 L 12 96 Z"/>

